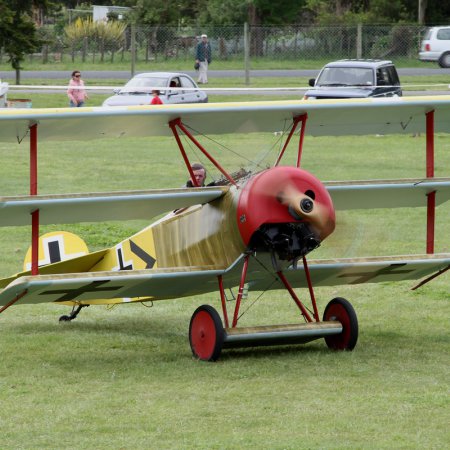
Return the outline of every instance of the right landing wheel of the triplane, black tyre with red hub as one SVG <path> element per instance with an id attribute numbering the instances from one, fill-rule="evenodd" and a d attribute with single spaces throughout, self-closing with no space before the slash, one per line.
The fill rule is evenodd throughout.
<path id="1" fill-rule="evenodd" d="M 331 300 L 323 313 L 323 320 L 337 320 L 342 324 L 342 333 L 325 337 L 332 350 L 353 350 L 358 340 L 358 318 L 351 303 L 345 298 Z"/>

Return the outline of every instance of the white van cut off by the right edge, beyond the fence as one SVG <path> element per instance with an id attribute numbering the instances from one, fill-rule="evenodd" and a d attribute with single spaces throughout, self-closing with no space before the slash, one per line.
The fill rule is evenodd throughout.
<path id="1" fill-rule="evenodd" d="M 419 59 L 450 67 L 450 26 L 428 28 L 420 46 Z"/>

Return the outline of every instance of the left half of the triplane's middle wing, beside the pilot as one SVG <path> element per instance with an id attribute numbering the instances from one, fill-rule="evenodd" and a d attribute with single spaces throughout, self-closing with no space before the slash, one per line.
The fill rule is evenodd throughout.
<path id="1" fill-rule="evenodd" d="M 41 224 L 149 220 L 170 210 L 210 202 L 227 189 L 207 187 L 0 197 L 0 226 L 29 225 L 30 214 L 37 209 Z"/>

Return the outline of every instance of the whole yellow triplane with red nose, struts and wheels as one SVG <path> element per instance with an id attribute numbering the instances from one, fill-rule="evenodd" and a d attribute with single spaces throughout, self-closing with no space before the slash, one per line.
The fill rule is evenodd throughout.
<path id="1" fill-rule="evenodd" d="M 272 167 L 236 174 L 224 169 L 192 131 L 286 129 Z M 301 168 L 305 130 L 316 136 L 425 132 L 424 178 L 324 184 Z M 282 165 L 297 131 L 296 164 Z M 450 198 L 450 178 L 434 177 L 435 131 L 450 132 L 448 96 L 1 111 L 0 140 L 28 142 L 31 163 L 30 195 L 0 197 L 0 226 L 31 224 L 32 245 L 24 271 L 0 280 L 0 312 L 14 304 L 63 303 L 72 312 L 61 320 L 70 321 L 87 305 L 218 291 L 221 315 L 212 306 L 201 305 L 189 325 L 192 352 L 199 359 L 216 360 L 223 348 L 304 343 L 322 337 L 332 349 L 352 350 L 358 338 L 353 307 L 337 297 L 320 316 L 314 286 L 417 279 L 424 284 L 450 268 L 450 254 L 434 251 L 436 209 Z M 174 137 L 193 188 L 37 192 L 38 137 L 166 135 Z M 181 136 L 220 172 L 208 187 L 198 186 Z M 394 207 L 426 207 L 426 254 L 307 261 L 306 256 L 333 233 L 335 211 Z M 68 232 L 39 237 L 41 224 L 150 221 L 163 213 L 142 231 L 93 253 Z M 235 287 L 237 295 L 231 302 L 226 292 Z M 308 289 L 310 307 L 300 300 L 296 288 Z M 292 323 L 240 326 L 247 292 L 269 289 L 284 289 L 295 302 L 299 313 Z"/>

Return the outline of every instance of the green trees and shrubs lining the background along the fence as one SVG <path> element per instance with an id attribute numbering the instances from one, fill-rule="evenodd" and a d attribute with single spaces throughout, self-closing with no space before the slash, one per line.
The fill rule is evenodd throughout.
<path id="1" fill-rule="evenodd" d="M 88 23 L 94 3 L 99 6 L 128 7 L 129 10 L 120 10 L 123 16 L 120 21 L 114 20 L 119 18 L 119 13 L 112 11 L 108 15 L 110 20 L 107 26 L 105 23 L 102 26 L 90 26 L 89 33 L 80 34 L 80 27 L 77 28 L 75 24 L 80 24 L 80 20 Z M 367 29 L 368 25 L 373 24 L 389 24 L 391 28 L 395 24 L 398 30 L 384 36 L 384 41 L 375 36 L 376 42 L 371 44 L 371 47 L 377 47 L 376 55 L 372 57 L 386 57 L 416 51 L 417 43 L 414 37 L 405 34 L 405 25 L 450 23 L 450 2 L 430 0 L 0 0 L 0 11 L 0 56 L 8 57 L 16 71 L 17 84 L 20 84 L 20 69 L 25 55 L 41 51 L 46 62 L 48 47 L 54 46 L 55 42 L 60 49 L 53 51 L 62 54 L 62 48 L 69 46 L 72 60 L 76 52 L 81 51 L 83 61 L 89 52 L 93 53 L 93 59 L 96 54 L 100 54 L 101 61 L 109 52 L 110 60 L 113 61 L 116 52 L 130 48 L 130 33 L 125 36 L 120 34 L 129 24 L 137 24 L 142 29 L 151 27 L 147 28 L 147 33 L 144 32 L 145 36 L 138 36 L 140 48 L 146 46 L 143 51 L 148 60 L 154 58 L 158 51 L 167 58 L 173 54 L 178 56 L 180 48 L 187 54 L 187 49 L 192 47 L 192 42 L 177 41 L 176 36 L 167 31 L 169 29 L 189 30 L 185 34 L 193 36 L 205 27 L 208 34 L 214 34 L 213 30 L 218 27 L 242 28 L 244 23 L 248 23 L 254 30 L 250 48 L 252 56 L 263 56 L 265 43 L 266 47 L 274 44 L 278 49 L 277 54 L 284 57 L 281 50 L 289 45 L 292 47 L 292 42 L 295 51 L 306 50 L 308 45 L 319 41 L 323 42 L 327 53 L 332 51 L 330 39 L 333 33 L 326 32 L 325 38 L 316 35 L 308 40 L 304 33 L 310 25 L 329 28 L 339 25 L 345 29 L 362 23 Z M 267 30 L 274 27 L 283 28 L 283 36 L 269 38 Z M 302 35 L 299 35 L 300 28 L 303 30 Z M 230 39 L 230 42 L 226 42 L 226 36 L 219 36 L 219 53 L 222 57 L 226 58 L 231 50 L 236 50 L 234 47 L 240 45 L 240 38 L 236 37 L 239 33 L 235 33 L 234 43 Z M 54 36 L 57 36 L 56 40 Z M 342 35 L 338 41 L 341 50 L 354 47 L 348 36 Z M 408 45 L 403 45 L 404 41 L 408 41 Z M 90 49 L 90 44 L 95 48 Z M 403 50 L 399 52 L 396 47 Z M 365 54 L 372 55 L 371 50 L 363 50 Z"/>

